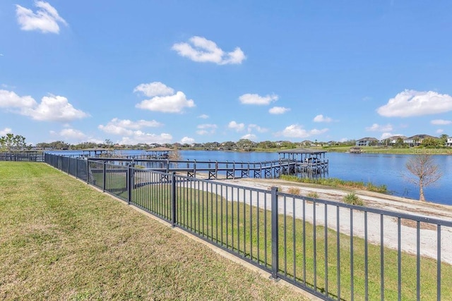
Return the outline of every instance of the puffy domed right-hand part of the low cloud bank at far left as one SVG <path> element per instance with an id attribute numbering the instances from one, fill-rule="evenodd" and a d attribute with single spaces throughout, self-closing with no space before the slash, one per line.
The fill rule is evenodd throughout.
<path id="1" fill-rule="evenodd" d="M 75 109 L 66 97 L 49 95 L 34 108 L 23 108 L 21 113 L 37 121 L 69 122 L 88 117 L 89 114 Z"/>

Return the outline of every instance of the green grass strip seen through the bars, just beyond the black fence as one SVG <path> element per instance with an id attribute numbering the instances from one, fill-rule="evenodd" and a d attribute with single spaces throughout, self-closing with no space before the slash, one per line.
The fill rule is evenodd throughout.
<path id="1" fill-rule="evenodd" d="M 215 185 L 210 188 L 215 192 Z M 133 202 L 141 207 L 155 211 L 160 216 L 169 216 L 169 185 L 148 185 L 133 190 Z M 237 191 L 236 191 L 237 192 Z M 239 193 L 239 192 L 237 192 Z M 160 198 L 157 198 L 160 195 Z M 243 202 L 228 202 L 217 193 L 202 192 L 198 183 L 177 186 L 179 223 L 198 235 L 227 247 L 244 257 L 254 260 L 263 266 L 271 265 L 271 229 L 270 211 L 250 207 Z M 148 197 L 154 196 L 154 197 Z M 231 195 L 230 195 L 231 197 Z M 270 199 L 268 199 L 270 202 Z M 350 245 L 349 235 L 339 235 L 339 246 L 336 241 L 338 233 L 328 229 L 328 257 L 325 260 L 325 228 L 303 223 L 301 219 L 279 216 L 279 252 L 280 272 L 287 274 L 300 283 L 304 283 L 319 292 L 326 289 L 325 262 L 328 264 L 328 293 L 331 297 L 340 296 L 350 300 L 354 285 L 355 300 L 364 300 L 364 240 L 353 239 L 353 279 L 350 277 Z M 371 225 L 370 225 L 371 226 Z M 286 229 L 284 235 L 283 229 Z M 304 229 L 304 240 L 303 230 Z M 316 232 L 314 240 L 314 230 Z M 295 235 L 294 235 L 295 233 Z M 295 239 L 294 239 L 295 238 Z M 315 244 L 314 244 L 315 241 Z M 285 244 L 284 244 L 285 242 Z M 306 253 L 303 252 L 303 243 Z M 285 247 L 286 246 L 286 247 Z M 315 251 L 315 252 L 314 252 Z M 338 252 L 340 264 L 338 264 Z M 379 300 L 380 295 L 380 246 L 367 246 L 368 260 L 368 293 L 369 300 Z M 314 257 L 314 253 L 316 254 Z M 402 253 L 401 296 L 403 300 L 416 300 L 416 257 Z M 314 265 L 316 276 L 314 276 Z M 398 298 L 398 253 L 396 250 L 383 248 L 384 294 L 386 300 Z M 436 260 L 427 257 L 421 259 L 422 300 L 436 300 Z M 306 273 L 304 273 L 306 267 Z M 338 292 L 338 268 L 340 271 L 340 292 Z M 443 300 L 452 300 L 452 266 L 441 266 L 441 292 Z M 314 285 L 315 283 L 315 285 Z"/>

